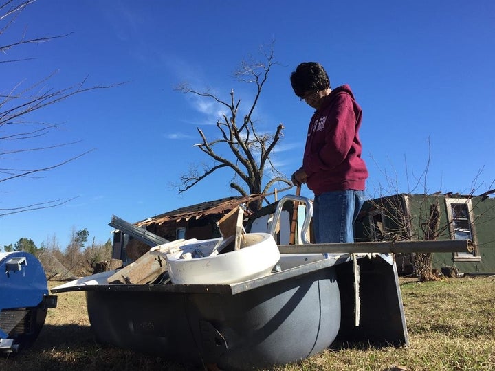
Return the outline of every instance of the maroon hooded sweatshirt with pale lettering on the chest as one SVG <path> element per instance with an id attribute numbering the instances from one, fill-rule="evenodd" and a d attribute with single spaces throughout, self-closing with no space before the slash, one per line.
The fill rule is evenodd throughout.
<path id="1" fill-rule="evenodd" d="M 333 89 L 309 122 L 303 168 L 316 194 L 364 190 L 368 178 L 358 131 L 362 109 L 349 85 Z"/>

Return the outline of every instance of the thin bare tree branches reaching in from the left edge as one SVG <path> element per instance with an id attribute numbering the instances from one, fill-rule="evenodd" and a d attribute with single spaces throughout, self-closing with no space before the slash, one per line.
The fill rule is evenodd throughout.
<path id="1" fill-rule="evenodd" d="M 29 38 L 24 32 L 19 37 L 14 38 L 14 41 L 8 41 L 8 36 L 5 35 L 7 30 L 14 24 L 14 21 L 17 21 L 25 8 L 34 3 L 34 1 L 36 0 L 5 0 L 0 4 L 0 52 L 1 56 L 5 58 L 3 60 L 0 59 L 0 65 L 5 65 L 7 63 L 27 63 L 28 60 L 32 59 L 16 59 L 14 56 L 9 58 L 10 54 L 13 54 L 14 49 L 32 44 L 37 45 L 39 43 L 53 41 L 56 38 L 69 36 L 69 34 L 64 34 L 58 36 L 44 36 L 41 38 Z M 34 113 L 47 106 L 51 106 L 52 104 L 72 97 L 72 95 L 94 89 L 106 89 L 120 85 L 86 87 L 86 79 L 84 79 L 82 82 L 70 87 L 53 89 L 48 85 L 53 76 L 54 74 L 50 74 L 50 76 L 42 78 L 28 87 L 25 87 L 22 82 L 23 76 L 19 76 L 20 82 L 17 85 L 8 91 L 0 91 L 0 183 L 17 178 L 28 179 L 36 177 L 91 152 L 91 150 L 88 150 L 84 153 L 69 157 L 68 159 L 62 159 L 55 164 L 52 163 L 45 166 L 14 168 L 5 165 L 5 162 L 8 160 L 12 161 L 27 153 L 43 153 L 47 150 L 53 150 L 54 148 L 69 146 L 76 143 L 46 144 L 46 142 L 49 141 L 47 138 L 50 133 L 59 129 L 61 125 L 34 120 Z M 45 143 L 44 145 L 39 144 L 41 140 Z M 40 203 L 34 203 L 32 205 L 17 205 L 17 207 L 0 209 L 0 216 L 55 207 L 71 200 L 72 199 L 56 199 L 41 201 Z"/>

